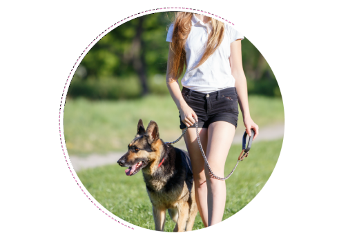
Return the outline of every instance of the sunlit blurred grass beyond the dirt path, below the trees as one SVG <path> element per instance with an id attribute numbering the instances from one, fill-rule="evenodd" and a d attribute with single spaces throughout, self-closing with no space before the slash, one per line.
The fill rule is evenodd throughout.
<path id="1" fill-rule="evenodd" d="M 285 122 L 284 100 L 249 96 L 251 117 L 260 127 Z M 149 95 L 142 99 L 88 101 L 67 99 L 64 107 L 64 139 L 68 154 L 125 151 L 133 139 L 139 119 L 151 120 L 160 128 L 164 141 L 180 136 L 179 112 L 170 95 Z M 244 127 L 242 113 L 238 127 Z"/>

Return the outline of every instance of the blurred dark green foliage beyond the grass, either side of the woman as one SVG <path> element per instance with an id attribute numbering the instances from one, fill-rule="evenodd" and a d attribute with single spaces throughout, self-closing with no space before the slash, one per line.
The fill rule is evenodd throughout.
<path id="1" fill-rule="evenodd" d="M 171 22 L 167 16 L 171 14 L 156 12 L 139 17 L 144 19 L 139 53 L 144 54 L 148 88 L 155 94 L 168 93 L 166 34 Z M 68 95 L 89 99 L 132 99 L 141 95 L 142 86 L 131 60 L 133 54 L 138 53 L 134 43 L 139 18 L 117 26 L 88 51 L 72 78 Z M 242 41 L 242 61 L 250 94 L 282 97 L 276 74 L 247 37 Z M 155 83 L 154 79 L 160 79 L 159 76 L 162 83 Z"/>

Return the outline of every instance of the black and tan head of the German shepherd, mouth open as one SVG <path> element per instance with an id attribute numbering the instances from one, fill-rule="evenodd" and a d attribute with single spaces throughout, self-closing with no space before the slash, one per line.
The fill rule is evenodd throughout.
<path id="1" fill-rule="evenodd" d="M 160 158 L 160 148 L 162 141 L 158 132 L 158 125 L 155 121 L 150 121 L 148 127 L 144 128 L 142 119 L 137 125 L 137 135 L 128 145 L 128 152 L 122 156 L 117 163 L 122 167 L 128 168 L 125 172 L 127 176 L 132 176 L 142 170 L 152 173 L 153 166 Z"/>

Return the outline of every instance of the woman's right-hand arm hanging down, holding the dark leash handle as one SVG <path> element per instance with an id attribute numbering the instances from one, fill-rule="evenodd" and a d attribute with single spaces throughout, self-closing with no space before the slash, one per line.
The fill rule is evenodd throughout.
<path id="1" fill-rule="evenodd" d="M 242 65 L 242 42 L 238 39 L 231 43 L 231 55 L 230 55 L 230 66 L 232 76 L 235 78 L 235 89 L 238 93 L 238 101 L 240 104 L 240 110 L 243 114 L 243 121 L 247 134 L 251 136 L 251 128 L 255 130 L 253 139 L 258 136 L 258 125 L 255 124 L 251 119 L 248 103 L 248 89 L 247 79 L 245 78 L 243 65 Z"/>

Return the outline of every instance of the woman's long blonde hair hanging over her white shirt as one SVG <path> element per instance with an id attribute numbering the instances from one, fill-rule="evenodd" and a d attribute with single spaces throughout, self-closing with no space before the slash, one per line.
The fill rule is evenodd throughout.
<path id="1" fill-rule="evenodd" d="M 185 43 L 191 31 L 192 15 L 193 12 L 175 12 L 175 19 L 173 20 L 173 36 L 170 43 L 174 56 L 173 61 L 169 62 L 169 75 L 175 76 L 175 79 L 180 77 L 184 71 L 184 66 L 187 67 Z M 206 50 L 200 62 L 193 69 L 201 66 L 202 63 L 204 63 L 206 59 L 208 59 L 220 46 L 222 39 L 224 38 L 224 23 L 211 17 L 210 19 L 212 29 L 206 43 Z"/>

